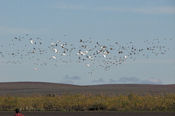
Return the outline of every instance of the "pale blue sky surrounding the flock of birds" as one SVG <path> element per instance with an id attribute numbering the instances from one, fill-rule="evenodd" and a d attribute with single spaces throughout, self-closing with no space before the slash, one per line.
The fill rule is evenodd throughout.
<path id="1" fill-rule="evenodd" d="M 24 33 L 45 43 L 91 38 L 99 42 L 134 41 L 142 47 L 145 40 L 172 40 L 163 43 L 169 48 L 165 55 L 136 56 L 134 61 L 109 71 L 95 69 L 92 74 L 77 63 L 35 71 L 30 63 L 6 64 L 0 57 L 0 82 L 175 84 L 174 0 L 0 0 L 0 45 L 6 46 L 11 38 Z"/>

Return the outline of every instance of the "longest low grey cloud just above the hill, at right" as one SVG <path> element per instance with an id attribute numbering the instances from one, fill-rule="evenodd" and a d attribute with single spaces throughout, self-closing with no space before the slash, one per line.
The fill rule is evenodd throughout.
<path id="1" fill-rule="evenodd" d="M 160 79 L 149 78 L 149 79 L 139 79 L 137 77 L 121 77 L 118 80 L 109 79 L 109 83 L 116 84 L 162 84 Z"/>

